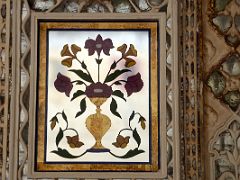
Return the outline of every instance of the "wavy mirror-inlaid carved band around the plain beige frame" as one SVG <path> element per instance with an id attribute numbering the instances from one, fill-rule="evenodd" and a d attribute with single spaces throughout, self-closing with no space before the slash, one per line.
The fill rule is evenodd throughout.
<path id="1" fill-rule="evenodd" d="M 30 15 L 31 10 L 36 12 L 67 12 L 67 13 L 148 13 L 164 12 L 167 16 L 167 142 L 168 157 L 166 167 L 168 179 L 180 178 L 180 143 L 179 143 L 179 109 L 173 99 L 178 99 L 178 34 L 177 34 L 177 3 L 174 0 L 13 0 L 13 30 L 16 33 L 16 47 L 14 51 L 19 54 L 14 64 L 15 75 L 13 76 L 14 89 L 16 96 L 13 96 L 15 105 L 11 109 L 14 112 L 14 119 L 19 120 L 15 123 L 10 122 L 12 129 L 19 129 L 18 132 L 10 132 L 10 160 L 18 159 L 10 165 L 10 179 L 27 178 L 27 145 L 28 145 L 28 100 L 29 100 L 29 68 L 30 68 Z M 20 14 L 22 14 L 20 20 Z M 21 33 L 19 33 L 21 31 Z M 21 48 L 18 48 L 21 47 Z M 18 83 L 20 82 L 21 83 Z M 174 83 L 173 83 L 174 82 Z M 193 84 L 193 82 L 192 82 Z M 194 104 L 194 102 L 192 102 Z M 19 141 L 18 141 L 19 139 Z M 16 147 L 16 144 L 19 144 Z"/>

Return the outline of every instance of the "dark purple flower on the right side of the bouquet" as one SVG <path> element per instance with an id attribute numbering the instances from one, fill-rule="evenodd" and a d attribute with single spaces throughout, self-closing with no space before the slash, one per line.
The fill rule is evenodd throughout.
<path id="1" fill-rule="evenodd" d="M 139 92 L 143 88 L 143 81 L 141 79 L 141 74 L 137 73 L 134 76 L 129 76 L 125 84 L 125 89 L 128 96 L 131 96 L 134 92 Z"/>

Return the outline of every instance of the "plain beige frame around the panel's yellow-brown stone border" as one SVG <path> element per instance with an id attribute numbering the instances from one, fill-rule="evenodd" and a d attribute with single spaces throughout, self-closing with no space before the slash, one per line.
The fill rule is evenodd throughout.
<path id="1" fill-rule="evenodd" d="M 148 14 L 131 14 L 128 16 L 126 14 L 101 14 L 101 16 L 97 17 L 94 14 L 65 14 L 65 13 L 51 13 L 50 15 L 46 15 L 44 13 L 32 13 L 31 14 L 31 69 L 30 69 L 30 110 L 29 110 L 29 118 L 32 121 L 29 122 L 29 138 L 28 138 L 28 160 L 29 160 L 29 167 L 28 167 L 28 175 L 31 178 L 43 178 L 43 177 L 52 177 L 52 178 L 76 178 L 81 176 L 82 178 L 164 178 L 167 176 L 167 139 L 166 139 L 166 104 L 160 103 L 160 169 L 157 172 L 35 172 L 34 171 L 34 139 L 35 139 L 35 123 L 33 119 L 35 119 L 35 98 L 36 98 L 36 86 L 34 80 L 36 79 L 36 59 L 37 59 L 37 49 L 34 47 L 37 46 L 37 21 L 38 20 L 75 20 L 75 19 L 82 19 L 82 20 L 157 20 L 159 22 L 159 45 L 160 45 L 160 102 L 166 102 L 166 17 L 164 13 L 148 13 Z"/>

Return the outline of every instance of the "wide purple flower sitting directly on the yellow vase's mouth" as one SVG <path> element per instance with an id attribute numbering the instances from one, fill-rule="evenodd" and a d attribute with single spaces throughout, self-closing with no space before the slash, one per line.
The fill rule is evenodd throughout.
<path id="1" fill-rule="evenodd" d="M 105 97 L 108 98 L 112 95 L 112 87 L 100 82 L 92 83 L 86 87 L 85 94 L 87 97 Z"/>

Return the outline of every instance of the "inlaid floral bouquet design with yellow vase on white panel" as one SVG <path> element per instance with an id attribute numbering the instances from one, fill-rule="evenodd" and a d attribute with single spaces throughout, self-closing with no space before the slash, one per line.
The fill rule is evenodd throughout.
<path id="1" fill-rule="evenodd" d="M 102 62 L 105 59 L 102 55 L 111 56 L 111 50 L 116 49 L 121 57 L 117 60 L 112 60 L 111 65 L 106 73 L 100 73 Z M 82 51 L 87 51 L 88 56 L 95 57 L 95 69 L 97 73 L 97 79 L 93 78 L 93 75 L 88 70 L 88 60 L 80 60 L 77 54 L 81 54 Z M 79 47 L 76 44 L 66 44 L 63 46 L 61 52 L 61 63 L 69 72 L 75 75 L 75 79 L 70 79 L 65 74 L 58 72 L 54 81 L 54 87 L 58 93 L 64 93 L 69 101 L 79 101 L 80 106 L 75 114 L 75 118 L 81 117 L 86 111 L 89 103 L 93 103 L 96 106 L 96 113 L 89 114 L 86 119 L 86 128 L 92 134 L 95 139 L 95 144 L 81 154 L 71 154 L 69 149 L 78 149 L 84 147 L 84 139 L 81 138 L 79 132 L 69 126 L 71 121 L 67 116 L 67 111 L 59 111 L 55 113 L 50 120 L 50 128 L 53 131 L 58 128 L 56 134 L 55 144 L 56 149 L 52 153 L 61 156 L 63 158 L 78 158 L 84 156 L 86 153 L 110 153 L 116 158 L 131 158 L 138 154 L 144 153 L 140 145 L 143 143 L 141 140 L 141 134 L 138 129 L 143 131 L 146 129 L 146 119 L 141 112 L 136 112 L 132 109 L 132 114 L 128 118 L 128 127 L 121 129 L 117 137 L 113 138 L 112 145 L 115 148 L 125 149 L 130 140 L 136 142 L 136 147 L 128 150 L 124 155 L 118 155 L 111 151 L 111 148 L 104 147 L 102 145 L 102 138 L 109 131 L 111 127 L 110 118 L 102 113 L 101 106 L 111 99 L 109 105 L 110 112 L 119 119 L 122 119 L 122 113 L 119 111 L 118 101 L 128 101 L 128 98 L 135 93 L 138 93 L 144 87 L 141 72 L 136 72 L 133 69 L 134 66 L 139 63 L 137 60 L 137 49 L 133 44 L 122 44 L 119 47 L 114 47 L 114 43 L 110 38 L 104 39 L 101 34 L 98 34 L 96 38 L 89 38 L 85 41 L 85 46 Z M 114 58 L 112 58 L 114 59 Z M 81 68 L 73 66 L 73 62 L 79 63 Z M 120 62 L 124 62 L 124 67 L 120 65 Z M 101 77 L 106 74 L 105 77 Z M 124 75 L 124 76 L 121 76 Z M 119 77 L 124 77 L 120 78 Z M 102 81 L 100 79 L 103 79 Z M 78 90 L 72 92 L 74 87 L 78 87 Z M 127 96 L 125 96 L 127 94 Z M 90 101 L 87 101 L 89 99 Z M 130 107 L 131 108 L 131 107 Z M 60 125 L 59 121 L 65 121 L 65 127 Z M 126 121 L 126 119 L 123 119 Z M 138 121 L 137 121 L 138 120 Z M 137 121 L 137 122 L 135 122 Z M 65 135 L 66 132 L 71 131 L 72 136 Z M 130 132 L 131 135 L 124 135 L 124 132 Z M 60 146 L 60 142 L 67 141 L 68 148 Z"/>

